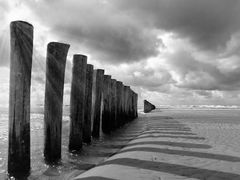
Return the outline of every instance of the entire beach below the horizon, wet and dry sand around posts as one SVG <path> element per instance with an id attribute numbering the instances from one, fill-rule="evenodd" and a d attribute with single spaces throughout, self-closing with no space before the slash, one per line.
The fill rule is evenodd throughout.
<path id="1" fill-rule="evenodd" d="M 2 129 L 6 117 L 2 116 Z M 32 171 L 28 179 L 240 179 L 239 109 L 157 109 L 139 112 L 123 128 L 67 151 L 69 120 L 64 116 L 59 166 L 44 163 L 42 115 L 32 115 Z M 5 177 L 7 131 L 1 138 L 1 178 Z"/>

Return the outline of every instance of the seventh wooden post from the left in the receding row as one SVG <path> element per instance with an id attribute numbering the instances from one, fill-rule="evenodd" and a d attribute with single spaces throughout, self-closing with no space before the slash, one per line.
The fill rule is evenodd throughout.
<path id="1" fill-rule="evenodd" d="M 111 79 L 111 129 L 114 130 L 117 127 L 117 81 Z"/>

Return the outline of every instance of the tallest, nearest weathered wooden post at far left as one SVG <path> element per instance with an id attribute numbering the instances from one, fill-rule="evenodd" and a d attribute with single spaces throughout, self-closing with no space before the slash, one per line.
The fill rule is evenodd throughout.
<path id="1" fill-rule="evenodd" d="M 30 171 L 30 86 L 33 26 L 14 21 L 11 31 L 8 173 Z"/>

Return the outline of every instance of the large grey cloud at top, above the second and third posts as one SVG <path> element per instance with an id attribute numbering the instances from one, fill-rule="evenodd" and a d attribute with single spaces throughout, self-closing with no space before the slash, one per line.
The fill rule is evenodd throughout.
<path id="1" fill-rule="evenodd" d="M 154 29 L 102 1 L 29 1 L 32 11 L 61 40 L 77 43 L 95 59 L 132 62 L 158 54 Z"/>

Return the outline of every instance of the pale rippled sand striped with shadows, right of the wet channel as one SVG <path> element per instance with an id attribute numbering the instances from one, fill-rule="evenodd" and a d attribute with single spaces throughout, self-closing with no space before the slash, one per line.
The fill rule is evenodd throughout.
<path id="1" fill-rule="evenodd" d="M 144 131 L 76 179 L 240 179 L 239 110 L 156 110 Z"/>

